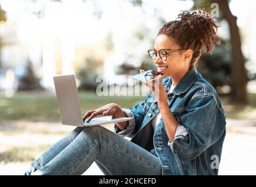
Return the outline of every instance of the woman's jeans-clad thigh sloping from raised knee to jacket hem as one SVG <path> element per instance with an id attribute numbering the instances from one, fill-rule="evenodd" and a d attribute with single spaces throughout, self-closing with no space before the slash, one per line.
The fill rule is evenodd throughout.
<path id="1" fill-rule="evenodd" d="M 158 157 L 111 131 L 104 134 L 96 164 L 105 175 L 162 175 Z"/>

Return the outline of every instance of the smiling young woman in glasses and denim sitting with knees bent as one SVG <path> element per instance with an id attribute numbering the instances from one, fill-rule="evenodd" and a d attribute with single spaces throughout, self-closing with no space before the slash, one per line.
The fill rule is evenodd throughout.
<path id="1" fill-rule="evenodd" d="M 77 127 L 25 174 L 81 175 L 95 161 L 105 175 L 217 175 L 226 115 L 213 86 L 195 67 L 219 44 L 217 27 L 202 10 L 182 12 L 166 23 L 148 50 L 162 75 L 158 86 L 148 84 L 145 101 L 129 109 L 110 103 L 84 115 L 88 121 L 102 114 L 133 119 L 116 123 L 115 132 Z"/>

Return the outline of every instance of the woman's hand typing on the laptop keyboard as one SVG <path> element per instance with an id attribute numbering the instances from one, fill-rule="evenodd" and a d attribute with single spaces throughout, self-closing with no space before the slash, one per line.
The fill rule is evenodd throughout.
<path id="1" fill-rule="evenodd" d="M 123 113 L 123 114 L 122 114 Z M 119 105 L 116 103 L 109 103 L 107 105 L 104 105 L 101 108 L 95 109 L 95 110 L 88 110 L 83 117 L 83 121 L 86 120 L 86 122 L 90 122 L 93 117 L 98 115 L 104 115 L 104 116 L 112 116 L 115 117 L 125 117 L 124 112 L 122 112 L 122 109 Z M 88 119 L 87 119 L 88 117 Z"/>

